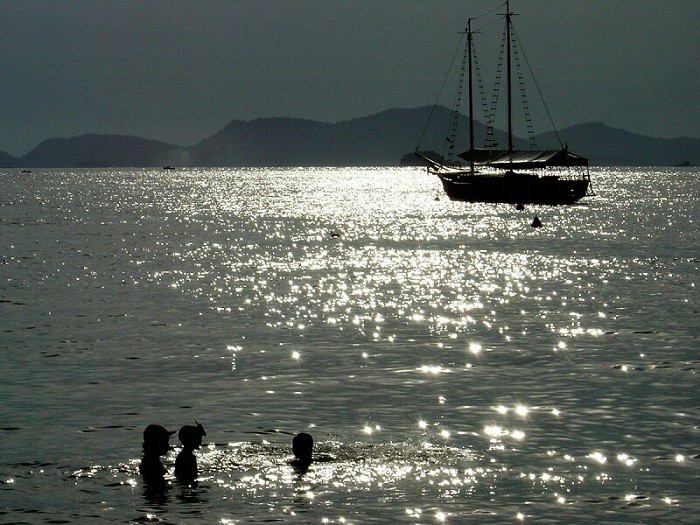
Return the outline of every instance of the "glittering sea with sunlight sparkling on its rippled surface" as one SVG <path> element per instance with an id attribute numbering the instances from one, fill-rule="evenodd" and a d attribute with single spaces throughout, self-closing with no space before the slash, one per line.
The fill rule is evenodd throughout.
<path id="1" fill-rule="evenodd" d="M 409 168 L 0 177 L 2 523 L 697 523 L 698 169 L 525 211 Z M 196 485 L 173 436 L 145 488 L 144 427 L 195 419 Z"/>

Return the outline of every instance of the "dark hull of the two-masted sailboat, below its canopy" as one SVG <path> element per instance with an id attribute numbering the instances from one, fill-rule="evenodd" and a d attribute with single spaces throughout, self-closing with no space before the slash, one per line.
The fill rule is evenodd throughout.
<path id="1" fill-rule="evenodd" d="M 589 195 L 588 179 L 530 174 L 439 174 L 451 200 L 507 204 L 573 204 Z"/>

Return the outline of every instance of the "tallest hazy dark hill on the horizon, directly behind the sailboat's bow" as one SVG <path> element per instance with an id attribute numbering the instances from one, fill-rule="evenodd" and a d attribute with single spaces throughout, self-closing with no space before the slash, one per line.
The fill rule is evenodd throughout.
<path id="1" fill-rule="evenodd" d="M 444 107 L 424 107 L 390 109 L 336 124 L 237 120 L 195 145 L 192 157 L 204 166 L 396 166 L 419 145 L 424 128 L 420 148 L 441 151 L 451 118 Z M 464 117 L 462 122 L 457 141 L 466 144 Z M 477 123 L 477 128 L 483 130 L 483 125 Z"/>

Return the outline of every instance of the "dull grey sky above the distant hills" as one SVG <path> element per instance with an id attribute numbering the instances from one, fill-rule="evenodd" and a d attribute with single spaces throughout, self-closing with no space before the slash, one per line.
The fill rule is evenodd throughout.
<path id="1" fill-rule="evenodd" d="M 85 133 L 189 146 L 238 119 L 450 106 L 449 82 L 438 94 L 460 31 L 503 3 L 0 0 L 0 150 Z M 700 137 L 700 0 L 512 0 L 511 10 L 557 129 Z M 503 23 L 474 24 L 490 99 Z M 542 111 L 535 131 L 551 131 Z"/>

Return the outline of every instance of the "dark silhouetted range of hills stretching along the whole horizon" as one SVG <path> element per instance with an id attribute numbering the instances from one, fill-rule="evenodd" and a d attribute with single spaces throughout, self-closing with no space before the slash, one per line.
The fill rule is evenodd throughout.
<path id="1" fill-rule="evenodd" d="M 413 163 L 411 154 L 419 139 L 422 151 L 443 151 L 451 116 L 450 110 L 438 106 L 395 108 L 334 124 L 293 118 L 234 120 L 192 146 L 124 135 L 53 138 L 21 157 L 0 151 L 0 167 L 398 166 Z M 475 136 L 484 135 L 484 130 L 476 123 Z M 496 137 L 506 140 L 503 131 Z M 653 138 L 602 122 L 565 128 L 559 137 L 590 158 L 593 166 L 700 165 L 700 138 Z M 457 140 L 467 143 L 465 137 Z M 538 135 L 536 142 L 540 149 L 559 147 L 552 132 Z M 524 147 L 524 141 L 516 139 L 516 147 Z"/>

